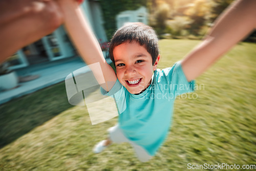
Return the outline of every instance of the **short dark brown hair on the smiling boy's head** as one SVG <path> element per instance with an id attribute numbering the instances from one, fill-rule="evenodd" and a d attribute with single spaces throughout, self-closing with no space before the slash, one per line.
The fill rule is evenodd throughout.
<path id="1" fill-rule="evenodd" d="M 113 50 L 116 46 L 124 42 L 136 41 L 143 46 L 152 57 L 152 65 L 154 65 L 159 54 L 158 38 L 152 27 L 143 23 L 129 23 L 118 29 L 110 42 L 110 59 L 115 64 Z"/>

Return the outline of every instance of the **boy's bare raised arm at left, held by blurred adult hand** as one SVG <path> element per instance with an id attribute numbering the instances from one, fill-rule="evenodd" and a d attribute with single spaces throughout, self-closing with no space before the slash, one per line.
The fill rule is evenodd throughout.
<path id="1" fill-rule="evenodd" d="M 99 84 L 101 84 L 101 87 L 106 91 L 110 91 L 117 80 L 116 73 L 105 61 L 99 43 L 84 18 L 78 3 L 70 0 L 62 0 L 60 6 L 66 29 L 81 57 L 87 65 L 99 62 L 101 70 L 99 68 L 89 67 Z"/>

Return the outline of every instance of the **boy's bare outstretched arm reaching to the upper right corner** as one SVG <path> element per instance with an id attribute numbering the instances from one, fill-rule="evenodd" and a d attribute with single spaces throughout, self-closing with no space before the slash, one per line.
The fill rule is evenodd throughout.
<path id="1" fill-rule="evenodd" d="M 255 0 L 239 0 L 220 15 L 203 42 L 181 62 L 188 81 L 201 75 L 219 57 L 256 28 L 255 9 Z"/>

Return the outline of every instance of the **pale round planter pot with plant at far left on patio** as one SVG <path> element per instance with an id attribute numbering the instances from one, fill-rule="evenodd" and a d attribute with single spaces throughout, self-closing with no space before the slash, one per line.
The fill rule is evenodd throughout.
<path id="1" fill-rule="evenodd" d="M 16 72 L 10 70 L 8 67 L 8 62 L 0 64 L 0 91 L 17 87 L 18 77 L 16 75 Z"/>

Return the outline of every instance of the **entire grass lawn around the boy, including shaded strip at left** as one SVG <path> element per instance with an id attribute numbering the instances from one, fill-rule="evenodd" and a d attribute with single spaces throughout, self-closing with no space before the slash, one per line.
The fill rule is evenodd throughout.
<path id="1" fill-rule="evenodd" d="M 198 43 L 160 40 L 159 68 L 171 67 Z M 187 170 L 188 163 L 256 164 L 255 56 L 256 44 L 240 43 L 201 75 L 197 98 L 176 100 L 172 131 L 146 163 L 138 161 L 127 143 L 94 154 L 93 146 L 117 118 L 92 125 L 86 107 L 68 103 L 63 82 L 12 100 L 0 106 L 0 170 Z"/>

